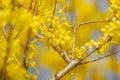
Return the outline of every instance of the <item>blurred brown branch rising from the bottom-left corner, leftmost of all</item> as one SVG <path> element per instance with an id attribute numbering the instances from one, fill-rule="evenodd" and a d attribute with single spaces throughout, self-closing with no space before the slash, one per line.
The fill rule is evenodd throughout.
<path id="1" fill-rule="evenodd" d="M 7 70 L 6 70 L 6 65 L 7 65 L 7 60 L 10 56 L 10 45 L 11 45 L 11 39 L 12 39 L 12 36 L 13 36 L 13 26 L 10 25 L 10 24 L 7 24 L 5 27 L 5 35 L 6 35 L 6 40 L 7 40 L 7 47 L 6 47 L 6 55 L 5 55 L 5 58 L 3 60 L 3 64 L 1 66 L 1 71 L 0 71 L 0 80 L 8 80 L 8 73 L 7 73 Z M 8 34 L 6 33 L 6 31 L 8 30 Z"/>

